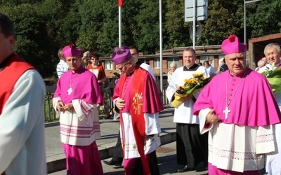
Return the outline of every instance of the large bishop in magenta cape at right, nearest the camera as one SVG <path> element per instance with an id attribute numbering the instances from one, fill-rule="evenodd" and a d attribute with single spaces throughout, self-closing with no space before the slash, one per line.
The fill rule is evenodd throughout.
<path id="1" fill-rule="evenodd" d="M 209 131 L 209 174 L 259 174 L 275 153 L 280 110 L 266 77 L 246 66 L 247 45 L 229 36 L 221 48 L 228 71 L 204 87 L 194 106 L 200 132 Z"/>

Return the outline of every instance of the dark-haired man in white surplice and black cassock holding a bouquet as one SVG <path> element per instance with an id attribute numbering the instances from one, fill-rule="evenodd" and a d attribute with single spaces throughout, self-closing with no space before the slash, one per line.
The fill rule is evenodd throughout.
<path id="1" fill-rule="evenodd" d="M 178 165 L 183 165 L 177 172 L 188 172 L 195 169 L 197 164 L 204 161 L 207 163 L 207 134 L 200 135 L 199 118 L 193 115 L 193 105 L 198 93 L 182 95 L 177 93 L 178 87 L 185 90 L 188 79 L 195 78 L 193 74 L 203 73 L 209 76 L 204 66 L 195 64 L 195 50 L 186 48 L 183 50 L 184 66 L 174 71 L 171 83 L 166 90 L 166 96 L 170 104 L 175 100 L 182 103 L 177 106 L 174 112 L 174 123 L 176 123 L 176 155 Z"/>

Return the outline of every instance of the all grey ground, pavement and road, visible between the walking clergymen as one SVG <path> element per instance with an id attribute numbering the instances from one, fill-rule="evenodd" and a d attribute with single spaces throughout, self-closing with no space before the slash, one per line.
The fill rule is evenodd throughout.
<path id="1" fill-rule="evenodd" d="M 157 160 L 160 174 L 181 174 L 176 169 L 181 165 L 176 163 L 176 124 L 173 123 L 172 113 L 174 109 L 165 108 L 159 115 L 159 123 L 162 128 L 160 134 L 162 146 L 157 148 Z M 98 149 L 101 160 L 110 160 L 114 146 L 117 141 L 119 130 L 119 120 L 100 120 L 101 139 L 97 140 Z M 58 123 L 50 123 L 46 125 L 46 156 L 48 164 L 48 174 L 65 175 L 65 155 L 60 144 L 60 128 Z M 103 172 L 106 175 L 124 174 L 124 169 L 115 169 L 112 166 L 103 165 Z M 207 175 L 207 171 L 199 165 L 196 171 L 185 172 L 182 174 L 190 175 Z"/>

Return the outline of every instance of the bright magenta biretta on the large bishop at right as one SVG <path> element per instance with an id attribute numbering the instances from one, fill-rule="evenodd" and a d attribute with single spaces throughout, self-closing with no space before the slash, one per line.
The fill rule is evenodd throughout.
<path id="1" fill-rule="evenodd" d="M 230 53 L 246 52 L 247 45 L 240 43 L 237 36 L 230 35 L 221 43 L 221 49 L 225 55 L 228 55 Z"/>

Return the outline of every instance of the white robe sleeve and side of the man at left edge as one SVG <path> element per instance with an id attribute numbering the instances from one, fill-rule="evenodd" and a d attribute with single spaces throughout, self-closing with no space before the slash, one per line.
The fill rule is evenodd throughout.
<path id="1" fill-rule="evenodd" d="M 46 174 L 45 94 L 45 83 L 35 70 L 15 83 L 0 115 L 0 174 Z"/>

